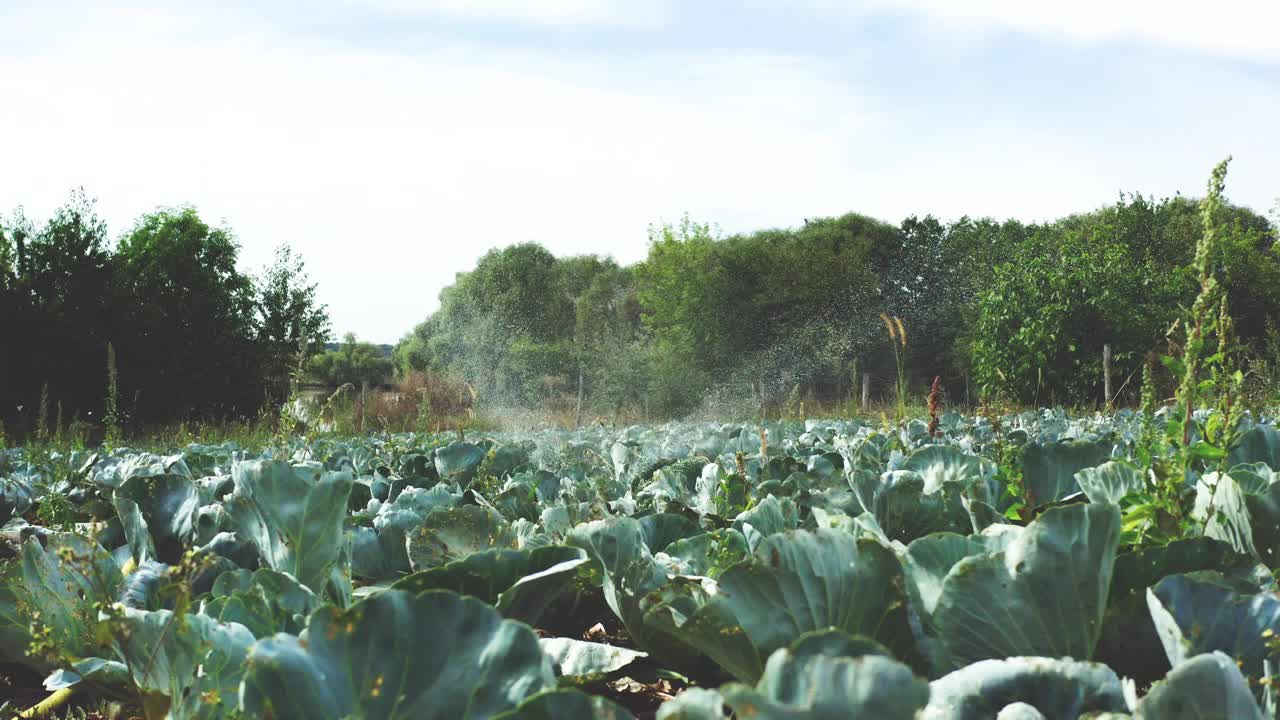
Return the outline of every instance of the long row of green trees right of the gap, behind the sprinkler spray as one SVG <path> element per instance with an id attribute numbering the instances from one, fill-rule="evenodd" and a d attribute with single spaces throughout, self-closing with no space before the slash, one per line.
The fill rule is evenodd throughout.
<path id="1" fill-rule="evenodd" d="M 1276 228 L 1243 206 L 1222 217 L 1213 261 L 1265 384 L 1280 359 Z M 890 400 L 900 368 L 916 396 L 941 377 L 970 404 L 1135 402 L 1143 364 L 1176 355 L 1166 337 L 1194 299 L 1202 232 L 1192 199 L 1121 195 L 1043 223 L 847 214 L 724 236 L 686 218 L 652 227 L 648 256 L 630 266 L 515 245 L 444 288 L 394 359 L 495 405 L 553 404 L 579 419 L 844 402 L 864 374 Z M 891 318 L 905 331 L 893 342 Z"/>

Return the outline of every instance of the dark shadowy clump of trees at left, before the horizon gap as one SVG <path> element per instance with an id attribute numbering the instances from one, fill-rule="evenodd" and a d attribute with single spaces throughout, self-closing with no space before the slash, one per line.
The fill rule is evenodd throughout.
<path id="1" fill-rule="evenodd" d="M 44 223 L 0 217 L 0 420 L 40 434 L 96 425 L 109 405 L 143 427 L 278 404 L 301 348 L 328 341 L 328 310 L 287 245 L 257 275 L 238 259 L 193 208 L 148 213 L 114 243 L 83 191 Z"/>

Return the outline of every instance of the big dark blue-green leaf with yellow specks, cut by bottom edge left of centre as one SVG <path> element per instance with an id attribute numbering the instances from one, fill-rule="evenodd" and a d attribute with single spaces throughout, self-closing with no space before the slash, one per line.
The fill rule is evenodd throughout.
<path id="1" fill-rule="evenodd" d="M 260 641 L 241 698 L 248 716 L 276 720 L 468 720 L 554 685 L 526 625 L 447 591 L 387 591 L 346 612 L 317 610 L 306 644 Z"/>

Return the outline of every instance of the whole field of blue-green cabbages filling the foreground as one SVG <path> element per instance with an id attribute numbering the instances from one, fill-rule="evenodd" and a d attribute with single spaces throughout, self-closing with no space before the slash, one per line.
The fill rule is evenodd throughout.
<path id="1" fill-rule="evenodd" d="M 1275 717 L 1280 432 L 1161 418 L 3 451 L 4 715 Z"/>

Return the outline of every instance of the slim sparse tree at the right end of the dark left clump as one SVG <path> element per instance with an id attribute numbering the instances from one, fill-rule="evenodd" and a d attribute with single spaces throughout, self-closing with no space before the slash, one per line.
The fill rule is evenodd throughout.
<path id="1" fill-rule="evenodd" d="M 297 355 L 329 342 L 329 309 L 317 301 L 316 287 L 302 256 L 287 243 L 275 249 L 275 261 L 257 278 L 257 347 L 276 401 L 288 395 Z"/>

